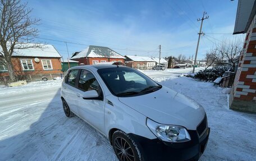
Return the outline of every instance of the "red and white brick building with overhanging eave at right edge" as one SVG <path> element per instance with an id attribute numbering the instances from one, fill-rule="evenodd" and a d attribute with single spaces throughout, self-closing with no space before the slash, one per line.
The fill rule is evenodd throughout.
<path id="1" fill-rule="evenodd" d="M 239 0 L 234 34 L 246 34 L 230 94 L 230 108 L 256 113 L 256 2 Z"/>

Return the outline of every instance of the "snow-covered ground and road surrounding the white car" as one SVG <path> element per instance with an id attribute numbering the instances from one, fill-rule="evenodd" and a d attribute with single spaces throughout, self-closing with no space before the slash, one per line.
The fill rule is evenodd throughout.
<path id="1" fill-rule="evenodd" d="M 256 115 L 228 109 L 226 89 L 181 77 L 190 71 L 143 72 L 205 108 L 211 135 L 200 160 L 255 160 Z M 104 136 L 80 118 L 65 116 L 61 82 L 0 88 L 0 160 L 117 160 Z"/>

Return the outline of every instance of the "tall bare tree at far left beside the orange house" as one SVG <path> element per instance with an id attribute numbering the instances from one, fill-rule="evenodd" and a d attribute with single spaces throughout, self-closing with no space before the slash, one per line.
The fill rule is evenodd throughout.
<path id="1" fill-rule="evenodd" d="M 10 80 L 16 81 L 11 62 L 13 51 L 39 47 L 34 43 L 38 36 L 38 19 L 30 17 L 31 9 L 21 0 L 0 0 L 0 63 L 7 67 Z"/>

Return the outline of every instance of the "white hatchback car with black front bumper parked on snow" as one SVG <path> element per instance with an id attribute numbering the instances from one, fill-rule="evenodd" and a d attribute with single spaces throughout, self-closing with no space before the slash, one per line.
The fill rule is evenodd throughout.
<path id="1" fill-rule="evenodd" d="M 207 145 L 203 107 L 130 67 L 72 67 L 61 99 L 66 116 L 106 136 L 122 161 L 198 160 Z"/>

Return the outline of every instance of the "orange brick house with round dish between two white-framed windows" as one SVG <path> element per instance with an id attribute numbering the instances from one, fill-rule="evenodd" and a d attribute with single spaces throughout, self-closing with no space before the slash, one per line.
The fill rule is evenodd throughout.
<path id="1" fill-rule="evenodd" d="M 27 44 L 28 45 L 28 44 Z M 12 54 L 15 75 L 22 76 L 50 75 L 62 73 L 61 55 L 53 45 L 40 45 L 40 48 L 15 49 Z M 8 80 L 6 66 L 0 63 L 0 78 Z M 24 77 L 26 79 L 26 77 Z M 29 77 L 28 77 L 29 78 Z"/>

